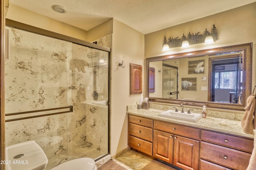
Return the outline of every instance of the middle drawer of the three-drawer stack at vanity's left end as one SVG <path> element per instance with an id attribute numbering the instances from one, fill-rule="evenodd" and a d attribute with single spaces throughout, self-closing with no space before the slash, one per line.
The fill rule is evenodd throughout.
<path id="1" fill-rule="evenodd" d="M 153 129 L 129 123 L 129 134 L 153 142 Z"/>

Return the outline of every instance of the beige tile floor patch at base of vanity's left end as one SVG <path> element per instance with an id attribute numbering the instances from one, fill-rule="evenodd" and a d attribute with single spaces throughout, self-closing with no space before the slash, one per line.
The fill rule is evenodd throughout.
<path id="1" fill-rule="evenodd" d="M 134 150 L 129 150 L 114 159 L 116 163 L 120 164 L 127 170 L 141 170 L 151 160 L 151 158 L 135 152 Z"/>

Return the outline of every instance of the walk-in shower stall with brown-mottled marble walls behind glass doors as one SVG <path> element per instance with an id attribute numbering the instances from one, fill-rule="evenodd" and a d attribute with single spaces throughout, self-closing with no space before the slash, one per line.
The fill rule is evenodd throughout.
<path id="1" fill-rule="evenodd" d="M 48 158 L 46 170 L 109 154 L 110 49 L 6 30 L 6 146 L 36 141 Z"/>

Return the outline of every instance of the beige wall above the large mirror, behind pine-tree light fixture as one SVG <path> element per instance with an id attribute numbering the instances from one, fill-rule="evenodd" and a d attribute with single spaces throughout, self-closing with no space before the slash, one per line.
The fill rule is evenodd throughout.
<path id="1" fill-rule="evenodd" d="M 174 53 L 183 53 L 187 51 L 196 51 L 200 49 L 210 49 L 214 47 L 223 47 L 242 43 L 253 43 L 253 51 L 256 49 L 256 2 L 221 12 L 205 18 L 200 18 L 191 22 L 166 28 L 157 32 L 145 35 L 145 58 Z M 164 36 L 166 38 L 179 37 L 190 33 L 204 32 L 207 28 L 211 30 L 215 24 L 219 33 L 219 40 L 214 45 L 204 46 L 203 43 L 190 45 L 188 49 L 180 47 L 172 48 L 168 52 L 162 52 L 162 43 Z M 252 86 L 256 85 L 256 53 L 252 53 Z M 205 92 L 205 91 L 204 91 Z"/>

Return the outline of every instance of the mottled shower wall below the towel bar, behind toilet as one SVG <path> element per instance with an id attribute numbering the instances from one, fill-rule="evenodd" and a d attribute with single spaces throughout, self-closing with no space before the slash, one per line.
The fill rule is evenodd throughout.
<path id="1" fill-rule="evenodd" d="M 34 140 L 48 158 L 46 170 L 67 159 L 67 114 L 6 123 L 6 146 Z"/>

